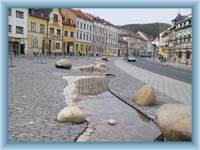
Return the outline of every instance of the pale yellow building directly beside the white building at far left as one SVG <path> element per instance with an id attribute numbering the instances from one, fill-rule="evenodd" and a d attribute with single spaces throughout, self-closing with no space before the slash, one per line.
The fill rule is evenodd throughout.
<path id="1" fill-rule="evenodd" d="M 46 11 L 46 10 L 45 10 Z M 38 13 L 40 12 L 40 13 Z M 45 54 L 47 49 L 48 16 L 41 17 L 44 10 L 29 9 L 28 15 L 28 55 Z"/>

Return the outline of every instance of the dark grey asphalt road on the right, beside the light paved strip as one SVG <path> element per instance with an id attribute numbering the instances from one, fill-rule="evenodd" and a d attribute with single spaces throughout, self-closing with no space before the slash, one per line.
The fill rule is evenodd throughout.
<path id="1" fill-rule="evenodd" d="M 137 58 L 136 62 L 130 62 L 131 64 L 149 70 L 151 72 L 161 74 L 166 77 L 173 78 L 175 80 L 192 83 L 192 70 L 175 68 L 168 65 L 154 63 L 144 58 Z"/>

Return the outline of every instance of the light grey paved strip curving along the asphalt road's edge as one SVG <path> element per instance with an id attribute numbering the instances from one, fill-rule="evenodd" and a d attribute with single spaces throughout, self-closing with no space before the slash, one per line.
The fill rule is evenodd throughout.
<path id="1" fill-rule="evenodd" d="M 191 103 L 191 84 L 138 68 L 134 65 L 128 64 L 122 59 L 115 61 L 115 65 L 134 78 L 153 86 L 156 90 L 172 97 L 173 99 L 180 101 L 181 103 Z"/>

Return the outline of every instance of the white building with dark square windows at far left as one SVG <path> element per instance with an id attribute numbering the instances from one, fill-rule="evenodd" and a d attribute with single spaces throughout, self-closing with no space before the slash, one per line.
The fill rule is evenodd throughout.
<path id="1" fill-rule="evenodd" d="M 8 37 L 9 52 L 27 54 L 28 9 L 8 9 Z"/>

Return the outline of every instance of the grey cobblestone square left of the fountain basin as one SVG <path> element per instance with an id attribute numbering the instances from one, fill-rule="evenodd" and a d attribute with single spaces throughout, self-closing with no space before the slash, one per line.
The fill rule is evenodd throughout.
<path id="1" fill-rule="evenodd" d="M 84 74 L 55 68 L 58 57 L 55 58 L 16 57 L 16 67 L 9 67 L 9 142 L 74 141 L 86 128 L 86 123 L 55 121 L 57 113 L 66 106 L 66 83 L 62 77 Z M 70 59 L 74 66 L 94 62 L 94 58 Z"/>

